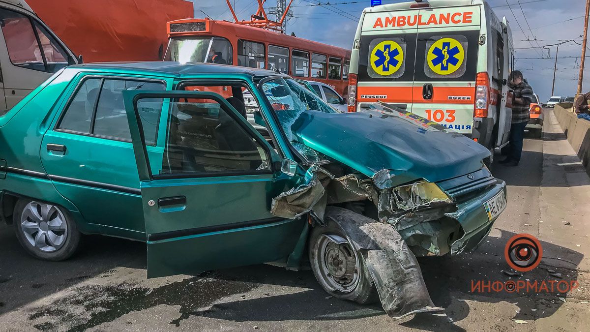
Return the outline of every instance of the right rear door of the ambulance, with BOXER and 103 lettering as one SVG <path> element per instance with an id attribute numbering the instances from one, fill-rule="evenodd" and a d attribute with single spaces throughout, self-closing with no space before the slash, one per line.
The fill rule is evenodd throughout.
<path id="1" fill-rule="evenodd" d="M 480 6 L 420 9 L 412 112 L 471 135 Z"/>

